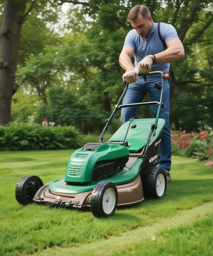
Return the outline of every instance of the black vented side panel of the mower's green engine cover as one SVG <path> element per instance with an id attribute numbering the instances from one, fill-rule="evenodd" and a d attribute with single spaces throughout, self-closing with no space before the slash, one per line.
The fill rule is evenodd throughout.
<path id="1" fill-rule="evenodd" d="M 104 179 L 114 174 L 118 170 L 122 170 L 126 166 L 128 157 L 122 157 L 112 160 L 103 160 L 97 162 L 92 174 L 92 181 Z"/>

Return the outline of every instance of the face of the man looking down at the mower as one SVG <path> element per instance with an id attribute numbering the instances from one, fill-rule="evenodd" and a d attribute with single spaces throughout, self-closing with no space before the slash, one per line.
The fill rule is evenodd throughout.
<path id="1" fill-rule="evenodd" d="M 148 35 L 153 28 L 152 17 L 149 16 L 148 19 L 144 19 L 142 15 L 139 14 L 136 20 L 131 21 L 131 25 L 137 31 L 138 35 L 148 38 Z"/>

